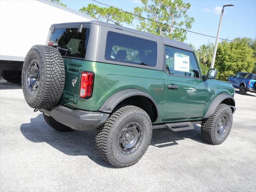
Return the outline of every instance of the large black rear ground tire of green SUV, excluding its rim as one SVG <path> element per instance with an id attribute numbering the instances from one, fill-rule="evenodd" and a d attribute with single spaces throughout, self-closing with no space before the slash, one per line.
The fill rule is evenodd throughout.
<path id="1" fill-rule="evenodd" d="M 140 146 L 132 154 L 124 154 L 118 143 L 119 134 L 129 122 L 138 122 L 143 128 Z M 96 148 L 103 160 L 117 168 L 136 164 L 146 152 L 152 136 L 152 124 L 148 114 L 136 106 L 118 106 L 107 122 L 98 128 Z"/>

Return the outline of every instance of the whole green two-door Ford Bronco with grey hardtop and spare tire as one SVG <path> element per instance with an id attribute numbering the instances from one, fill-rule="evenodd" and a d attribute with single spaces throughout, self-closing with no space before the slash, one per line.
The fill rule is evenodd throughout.
<path id="1" fill-rule="evenodd" d="M 187 44 L 100 21 L 63 23 L 28 52 L 22 89 L 52 128 L 97 129 L 100 156 L 126 167 L 146 152 L 155 128 L 201 124 L 206 142 L 226 140 L 235 90 L 216 75 L 202 75 Z"/>

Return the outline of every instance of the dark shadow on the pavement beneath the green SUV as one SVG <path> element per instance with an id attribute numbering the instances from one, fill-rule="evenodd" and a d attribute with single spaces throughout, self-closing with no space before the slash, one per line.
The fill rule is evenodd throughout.
<path id="1" fill-rule="evenodd" d="M 46 142 L 60 152 L 70 156 L 88 156 L 91 160 L 107 168 L 114 168 L 100 158 L 95 147 L 96 130 L 58 132 L 48 126 L 43 115 L 31 118 L 30 123 L 20 126 L 24 137 L 32 142 Z M 197 142 L 203 142 L 200 136 L 200 127 L 196 126 L 192 131 L 170 132 L 167 129 L 153 130 L 150 145 L 158 148 L 177 145 L 178 140 L 190 138 Z M 204 142 L 205 143 L 205 142 Z"/>

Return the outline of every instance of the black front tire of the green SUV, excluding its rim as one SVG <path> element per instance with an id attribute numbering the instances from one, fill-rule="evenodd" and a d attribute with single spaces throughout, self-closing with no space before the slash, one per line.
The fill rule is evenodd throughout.
<path id="1" fill-rule="evenodd" d="M 225 115 L 227 117 L 227 127 L 223 135 L 218 133 L 218 123 L 220 118 Z M 204 141 L 218 145 L 222 144 L 228 137 L 233 122 L 233 114 L 230 106 L 219 104 L 214 114 L 208 119 L 204 119 L 201 124 L 201 135 Z"/>

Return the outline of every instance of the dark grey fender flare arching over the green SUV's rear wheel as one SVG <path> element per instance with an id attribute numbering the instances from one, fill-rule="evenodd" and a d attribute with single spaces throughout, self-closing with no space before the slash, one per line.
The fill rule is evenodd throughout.
<path id="1" fill-rule="evenodd" d="M 157 116 L 159 117 L 158 107 L 154 98 L 152 98 L 152 96 L 150 96 L 146 92 L 143 92 L 138 89 L 124 89 L 119 92 L 116 92 L 114 95 L 112 95 L 110 98 L 108 98 L 104 102 L 104 104 L 100 107 L 99 111 L 105 112 L 105 113 L 111 113 L 120 102 L 132 96 L 145 96 L 148 99 L 150 99 L 154 103 L 157 110 Z"/>

